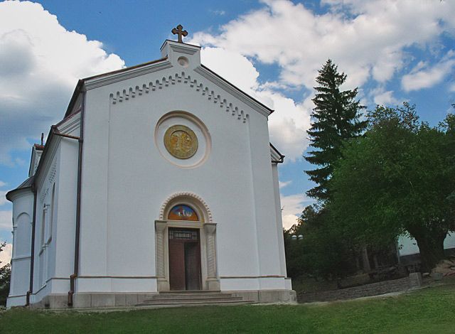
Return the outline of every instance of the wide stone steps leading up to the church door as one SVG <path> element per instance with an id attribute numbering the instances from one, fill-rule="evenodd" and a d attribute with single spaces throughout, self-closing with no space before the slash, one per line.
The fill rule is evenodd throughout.
<path id="1" fill-rule="evenodd" d="M 232 296 L 232 293 L 218 291 L 178 291 L 147 296 L 137 306 L 203 306 L 245 303 L 254 303 L 254 301 L 244 301 L 242 297 Z"/>

